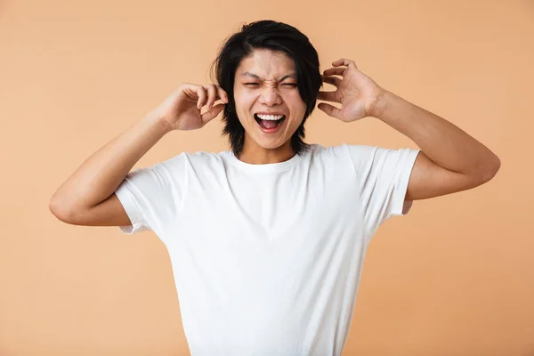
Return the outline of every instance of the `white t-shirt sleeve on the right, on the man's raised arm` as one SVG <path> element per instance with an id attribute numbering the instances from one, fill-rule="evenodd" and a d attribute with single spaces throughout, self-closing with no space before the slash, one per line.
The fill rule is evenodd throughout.
<path id="1" fill-rule="evenodd" d="M 374 146 L 347 145 L 356 170 L 366 235 L 392 216 L 408 214 L 409 177 L 420 150 L 389 150 Z"/>

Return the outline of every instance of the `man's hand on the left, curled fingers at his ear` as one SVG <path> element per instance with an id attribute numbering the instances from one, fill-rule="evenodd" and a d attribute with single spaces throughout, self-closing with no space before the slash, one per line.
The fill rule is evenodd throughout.
<path id="1" fill-rule="evenodd" d="M 214 106 L 215 101 L 223 101 Z M 228 103 L 228 94 L 214 84 L 182 84 L 154 109 L 153 115 L 167 125 L 169 131 L 196 130 L 214 119 Z M 201 109 L 206 106 L 206 112 Z"/>

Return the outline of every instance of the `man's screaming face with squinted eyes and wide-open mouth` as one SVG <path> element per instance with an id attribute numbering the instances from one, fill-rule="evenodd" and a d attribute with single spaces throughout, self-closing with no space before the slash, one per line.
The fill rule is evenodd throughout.
<path id="1" fill-rule="evenodd" d="M 241 61 L 234 100 L 246 131 L 245 145 L 255 142 L 264 149 L 277 149 L 289 144 L 306 111 L 296 84 L 295 62 L 285 53 L 258 49 Z M 281 120 L 270 120 L 280 116 Z"/>

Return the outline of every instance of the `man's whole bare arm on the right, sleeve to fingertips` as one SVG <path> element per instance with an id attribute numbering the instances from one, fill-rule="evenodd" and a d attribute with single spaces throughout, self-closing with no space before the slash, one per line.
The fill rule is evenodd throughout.
<path id="1" fill-rule="evenodd" d="M 324 83 L 336 86 L 336 91 L 320 91 L 317 99 L 341 103 L 342 107 L 321 102 L 319 109 L 347 123 L 376 117 L 421 149 L 409 178 L 406 201 L 472 189 L 497 174 L 498 157 L 456 125 L 380 87 L 352 60 L 342 58 L 332 65 L 321 77 Z"/>

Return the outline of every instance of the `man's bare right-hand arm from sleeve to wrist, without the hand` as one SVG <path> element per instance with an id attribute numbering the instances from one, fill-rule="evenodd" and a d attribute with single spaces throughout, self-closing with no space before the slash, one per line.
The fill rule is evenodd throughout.
<path id="1" fill-rule="evenodd" d="M 500 160 L 481 142 L 432 112 L 384 91 L 370 116 L 408 136 L 421 152 L 409 179 L 406 200 L 439 197 L 490 181 Z"/>

